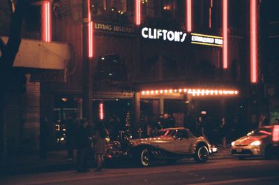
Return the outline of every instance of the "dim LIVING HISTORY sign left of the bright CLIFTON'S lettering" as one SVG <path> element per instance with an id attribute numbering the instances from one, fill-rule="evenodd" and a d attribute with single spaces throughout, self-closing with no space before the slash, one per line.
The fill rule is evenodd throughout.
<path id="1" fill-rule="evenodd" d="M 103 24 L 103 23 L 95 23 L 94 30 L 96 30 L 96 31 L 112 31 L 112 32 L 117 32 L 119 34 L 134 34 L 135 33 L 135 29 L 133 27 L 123 27 L 121 25 Z"/>

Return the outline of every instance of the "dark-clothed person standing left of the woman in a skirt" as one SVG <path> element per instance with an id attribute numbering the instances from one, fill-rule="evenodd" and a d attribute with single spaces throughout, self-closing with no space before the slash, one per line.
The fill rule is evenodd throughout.
<path id="1" fill-rule="evenodd" d="M 89 144 L 89 121 L 83 118 L 80 120 L 80 127 L 77 129 L 77 172 L 89 171 L 86 168 Z"/>

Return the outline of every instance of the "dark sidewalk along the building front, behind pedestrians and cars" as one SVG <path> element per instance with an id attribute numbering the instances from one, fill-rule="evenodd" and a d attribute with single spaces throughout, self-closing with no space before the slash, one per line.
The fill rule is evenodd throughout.
<path id="1" fill-rule="evenodd" d="M 75 154 L 76 156 L 76 154 Z M 1 163 L 1 175 L 15 175 L 36 172 L 57 172 L 63 170 L 75 170 L 76 158 L 68 160 L 67 151 L 50 151 L 46 159 L 41 159 L 38 154 L 24 154 L 21 156 L 10 156 L 6 161 Z M 209 160 L 232 158 L 230 147 L 219 149 L 218 153 L 209 157 Z M 93 157 L 89 157 L 87 161 L 89 168 L 95 166 Z"/>

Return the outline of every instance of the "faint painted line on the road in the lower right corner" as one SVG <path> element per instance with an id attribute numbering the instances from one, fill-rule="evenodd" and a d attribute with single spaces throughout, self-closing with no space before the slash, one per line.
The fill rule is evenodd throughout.
<path id="1" fill-rule="evenodd" d="M 187 185 L 229 184 L 229 183 L 238 183 L 238 182 L 261 181 L 261 180 L 267 180 L 267 179 L 279 179 L 279 177 L 278 176 L 273 176 L 273 177 L 260 177 L 260 178 L 248 178 L 248 179 L 233 179 L 233 180 L 226 180 L 226 181 L 202 182 L 202 183 L 187 184 Z"/>

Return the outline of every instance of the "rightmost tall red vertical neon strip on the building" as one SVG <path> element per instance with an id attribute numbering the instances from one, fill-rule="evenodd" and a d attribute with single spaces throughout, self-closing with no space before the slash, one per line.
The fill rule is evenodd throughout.
<path id="1" fill-rule="evenodd" d="M 257 82 L 257 1 L 250 0 L 250 81 Z"/>

